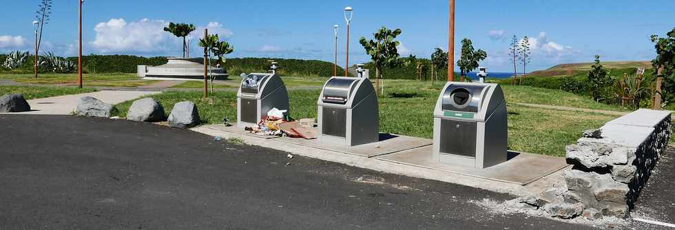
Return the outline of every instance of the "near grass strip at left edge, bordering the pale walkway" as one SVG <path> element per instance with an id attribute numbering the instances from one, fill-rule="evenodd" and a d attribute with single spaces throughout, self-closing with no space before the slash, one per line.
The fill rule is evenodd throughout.
<path id="1" fill-rule="evenodd" d="M 66 94 L 82 94 L 94 91 L 96 90 L 86 87 L 80 89 L 77 87 L 0 85 L 0 96 L 5 94 L 23 94 L 23 98 L 26 100 Z"/>

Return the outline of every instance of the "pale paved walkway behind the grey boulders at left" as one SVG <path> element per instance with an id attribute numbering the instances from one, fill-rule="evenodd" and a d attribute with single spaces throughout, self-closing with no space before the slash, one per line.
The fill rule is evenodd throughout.
<path id="1" fill-rule="evenodd" d="M 122 103 L 124 101 L 133 100 L 141 96 L 158 94 L 160 92 L 154 91 L 110 91 L 103 90 L 98 92 L 90 92 L 85 94 L 71 94 L 64 96 L 54 96 L 48 98 L 38 98 L 28 100 L 31 111 L 19 112 L 12 114 L 51 114 L 51 115 L 67 115 L 73 112 L 77 107 L 77 101 L 83 96 L 93 96 L 109 104 Z M 1 113 L 0 113 L 1 114 Z"/>

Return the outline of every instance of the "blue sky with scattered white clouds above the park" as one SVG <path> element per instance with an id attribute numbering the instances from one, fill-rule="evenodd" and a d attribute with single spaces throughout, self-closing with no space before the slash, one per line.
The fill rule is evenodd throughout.
<path id="1" fill-rule="evenodd" d="M 0 0 L 0 53 L 33 50 L 32 21 L 38 0 Z M 351 6 L 350 64 L 369 61 L 359 38 L 372 39 L 382 26 L 400 28 L 402 56 L 429 58 L 448 47 L 448 1 L 160 1 L 86 0 L 83 5 L 83 54 L 180 56 L 182 42 L 163 31 L 169 22 L 194 23 L 191 56 L 200 55 L 203 29 L 234 46 L 228 57 L 276 57 L 333 61 L 333 25 L 339 25 L 338 64 L 344 65 L 346 23 Z M 527 71 L 559 63 L 646 61 L 654 58 L 651 34 L 675 27 L 672 0 L 457 0 L 455 54 L 459 41 L 471 39 L 488 58 L 488 72 L 512 72 L 508 45 L 515 35 L 530 37 Z M 77 55 L 77 1 L 54 0 L 41 52 Z M 201 51 L 203 52 L 203 50 Z M 523 66 L 518 63 L 519 72 Z"/>

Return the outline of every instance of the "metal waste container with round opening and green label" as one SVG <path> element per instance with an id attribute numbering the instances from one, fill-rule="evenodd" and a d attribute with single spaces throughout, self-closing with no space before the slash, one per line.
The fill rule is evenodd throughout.
<path id="1" fill-rule="evenodd" d="M 448 82 L 434 109 L 433 156 L 483 169 L 506 161 L 506 101 L 490 83 Z"/>

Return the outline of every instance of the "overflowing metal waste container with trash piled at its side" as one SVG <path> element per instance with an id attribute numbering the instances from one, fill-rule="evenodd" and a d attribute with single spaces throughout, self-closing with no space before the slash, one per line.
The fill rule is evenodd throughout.
<path id="1" fill-rule="evenodd" d="M 243 77 L 237 92 L 238 127 L 257 125 L 275 107 L 290 112 L 286 85 L 277 74 L 248 74 Z"/>

